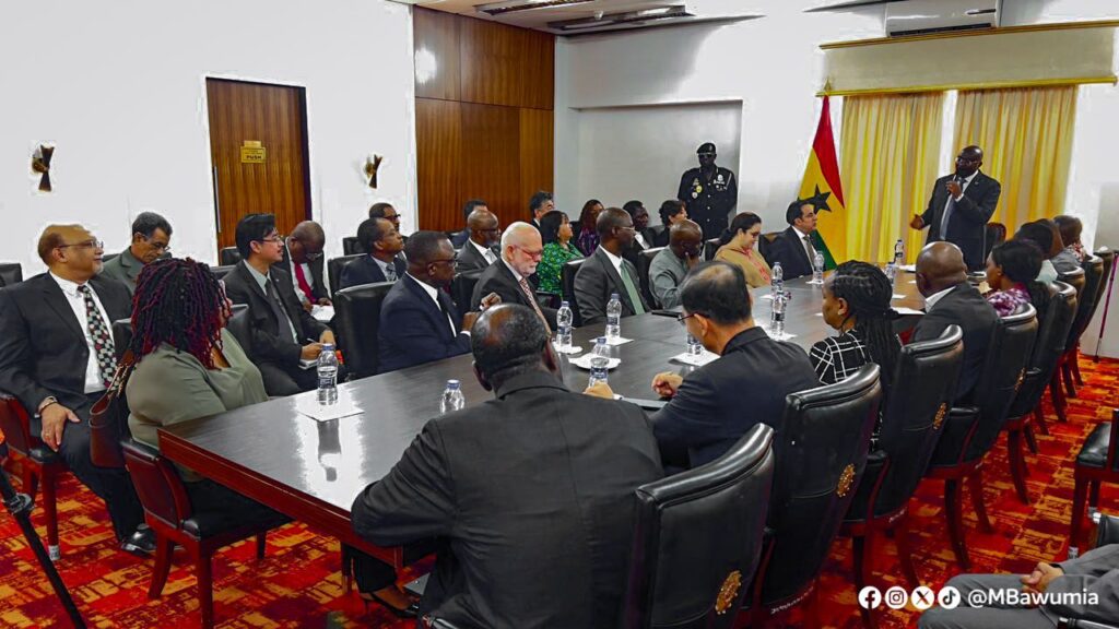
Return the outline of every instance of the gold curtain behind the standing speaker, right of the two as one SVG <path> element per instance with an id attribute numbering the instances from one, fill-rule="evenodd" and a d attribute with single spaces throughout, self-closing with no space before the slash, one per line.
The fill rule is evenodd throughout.
<path id="1" fill-rule="evenodd" d="M 991 222 L 1010 235 L 1027 220 L 1064 213 L 1076 92 L 1062 85 L 959 94 L 956 149 L 982 149 L 982 171 L 1003 185 Z"/>

